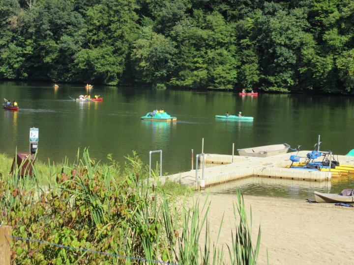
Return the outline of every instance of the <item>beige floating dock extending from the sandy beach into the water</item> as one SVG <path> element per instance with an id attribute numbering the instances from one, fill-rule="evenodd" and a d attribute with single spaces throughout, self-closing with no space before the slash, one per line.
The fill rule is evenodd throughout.
<path id="1" fill-rule="evenodd" d="M 309 152 L 311 151 L 300 151 L 298 156 L 303 157 L 302 160 L 305 160 L 306 154 Z M 293 152 L 267 158 L 205 154 L 206 165 L 207 163 L 221 165 L 212 167 L 206 166 L 204 179 L 202 177 L 202 169 L 198 169 L 197 177 L 196 171 L 191 170 L 163 177 L 161 181 L 164 182 L 164 180 L 168 178 L 171 181 L 180 182 L 184 185 L 193 186 L 195 189 L 200 189 L 251 176 L 319 182 L 331 179 L 330 172 L 286 168 L 287 165 L 292 163 L 289 159 L 290 156 L 296 154 L 296 152 Z M 335 159 L 338 160 L 340 164 L 354 165 L 354 157 L 335 156 Z M 317 161 L 322 161 L 322 159 L 317 159 Z M 202 167 L 202 165 L 200 165 L 200 167 Z"/>

